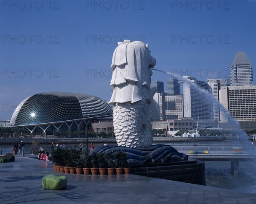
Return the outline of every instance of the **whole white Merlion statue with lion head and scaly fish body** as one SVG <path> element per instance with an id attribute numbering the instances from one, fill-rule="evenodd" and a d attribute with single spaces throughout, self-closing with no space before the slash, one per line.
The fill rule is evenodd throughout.
<path id="1" fill-rule="evenodd" d="M 118 42 L 111 68 L 114 87 L 110 104 L 116 142 L 125 147 L 151 147 L 153 141 L 149 108 L 157 88 L 150 88 L 156 59 L 148 44 L 140 41 Z"/>

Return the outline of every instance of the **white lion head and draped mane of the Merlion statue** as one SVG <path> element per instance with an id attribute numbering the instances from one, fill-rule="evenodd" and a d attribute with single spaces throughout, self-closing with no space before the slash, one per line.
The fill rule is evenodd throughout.
<path id="1" fill-rule="evenodd" d="M 142 100 L 141 89 L 143 86 L 150 89 L 150 68 L 154 68 L 155 65 L 156 59 L 151 56 L 148 44 L 131 40 L 119 42 L 111 64 L 113 75 L 110 85 L 115 88 L 110 104 Z M 149 100 L 150 97 L 148 94 Z"/>

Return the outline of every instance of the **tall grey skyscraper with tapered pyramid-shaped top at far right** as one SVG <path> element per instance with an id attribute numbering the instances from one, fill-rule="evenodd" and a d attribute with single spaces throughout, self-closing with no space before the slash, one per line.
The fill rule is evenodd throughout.
<path id="1" fill-rule="evenodd" d="M 245 52 L 237 52 L 230 68 L 231 86 L 253 85 L 253 66 Z"/>

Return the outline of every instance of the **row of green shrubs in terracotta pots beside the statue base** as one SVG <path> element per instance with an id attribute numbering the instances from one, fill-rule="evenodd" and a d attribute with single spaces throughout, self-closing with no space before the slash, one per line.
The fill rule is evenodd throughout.
<path id="1" fill-rule="evenodd" d="M 51 160 L 55 171 L 61 173 L 93 174 L 101 175 L 108 172 L 109 175 L 130 173 L 126 153 L 119 151 L 113 154 L 105 155 L 105 152 L 96 153 L 85 151 L 81 153 L 74 149 L 56 148 L 52 151 Z"/>

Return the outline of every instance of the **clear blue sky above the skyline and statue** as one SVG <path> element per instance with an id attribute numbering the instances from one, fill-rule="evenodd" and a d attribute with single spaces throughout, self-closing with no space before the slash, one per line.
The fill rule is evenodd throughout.
<path id="1" fill-rule="evenodd" d="M 127 38 L 149 44 L 155 68 L 199 80 L 230 79 L 236 52 L 245 51 L 256 82 L 255 0 L 1 0 L 0 9 L 1 120 L 46 91 L 108 101 L 112 54 Z M 167 78 L 154 72 L 152 81 L 166 86 Z"/>

